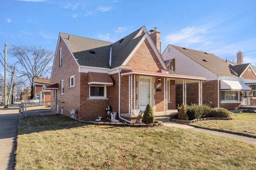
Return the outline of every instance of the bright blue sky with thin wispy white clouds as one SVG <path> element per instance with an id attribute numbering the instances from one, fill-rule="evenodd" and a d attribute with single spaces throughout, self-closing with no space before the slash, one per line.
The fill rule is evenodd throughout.
<path id="1" fill-rule="evenodd" d="M 5 0 L 0 43 L 41 46 L 55 52 L 59 32 L 117 41 L 143 25 L 168 44 L 256 65 L 256 1 Z M 0 53 L 3 55 L 3 44 Z M 1 57 L 1 56 L 0 56 Z M 7 63 L 15 60 L 7 54 Z M 3 66 L 0 64 L 3 75 Z"/>

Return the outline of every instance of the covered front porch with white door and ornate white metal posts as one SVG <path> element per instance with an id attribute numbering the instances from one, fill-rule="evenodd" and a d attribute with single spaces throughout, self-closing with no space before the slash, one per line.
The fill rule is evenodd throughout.
<path id="1" fill-rule="evenodd" d="M 136 120 L 149 103 L 156 117 L 178 114 L 175 101 L 175 84 L 183 84 L 183 104 L 186 105 L 187 82 L 198 82 L 198 103 L 202 105 L 202 81 L 204 78 L 170 73 L 122 70 L 121 116 Z M 127 91 L 126 91 L 127 90 Z M 125 92 L 124 92 L 125 91 Z M 128 102 L 127 102 L 128 101 Z"/>

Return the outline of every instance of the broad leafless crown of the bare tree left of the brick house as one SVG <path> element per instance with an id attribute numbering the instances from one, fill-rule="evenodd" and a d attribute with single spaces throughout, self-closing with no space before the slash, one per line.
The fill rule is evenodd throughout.
<path id="1" fill-rule="evenodd" d="M 30 83 L 33 78 L 41 78 L 51 71 L 53 53 L 42 47 L 13 46 L 10 54 L 17 58 L 15 64 L 21 65 L 17 72 L 19 77 L 27 77 Z"/>

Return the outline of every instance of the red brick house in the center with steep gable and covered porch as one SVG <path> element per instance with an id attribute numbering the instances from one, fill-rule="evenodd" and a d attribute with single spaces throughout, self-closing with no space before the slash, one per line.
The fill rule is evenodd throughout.
<path id="1" fill-rule="evenodd" d="M 95 120 L 106 118 L 111 105 L 127 122 L 148 103 L 156 115 L 177 113 L 171 110 L 176 108 L 175 83 L 206 79 L 171 74 L 160 52 L 156 28 L 149 35 L 141 27 L 116 43 L 60 33 L 46 88 L 54 91 L 51 108 L 68 116 L 76 111 L 79 120 Z"/>

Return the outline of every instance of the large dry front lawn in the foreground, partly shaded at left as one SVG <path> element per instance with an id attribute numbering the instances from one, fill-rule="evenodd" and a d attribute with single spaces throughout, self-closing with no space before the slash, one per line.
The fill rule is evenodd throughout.
<path id="1" fill-rule="evenodd" d="M 256 167 L 256 146 L 247 143 L 179 128 L 86 125 L 63 115 L 21 119 L 17 142 L 15 169 L 149 169 L 144 163 L 154 160 L 153 169 Z"/>

